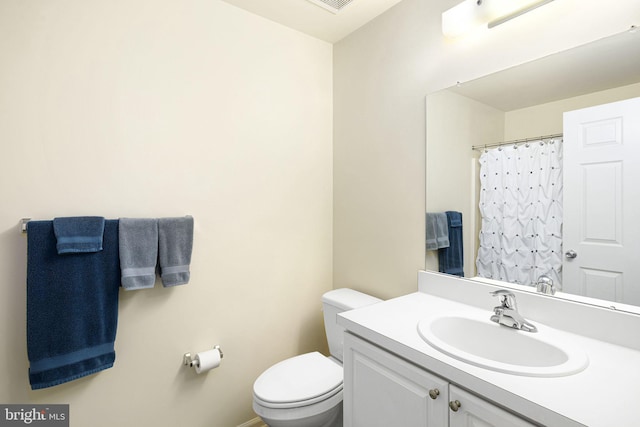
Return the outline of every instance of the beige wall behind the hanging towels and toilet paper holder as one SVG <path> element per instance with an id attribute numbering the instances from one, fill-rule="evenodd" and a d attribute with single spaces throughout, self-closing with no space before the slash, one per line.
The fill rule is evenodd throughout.
<path id="1" fill-rule="evenodd" d="M 326 349 L 332 46 L 217 0 L 0 2 L 0 403 L 71 425 L 229 427 Z M 116 364 L 31 391 L 21 217 L 191 214 L 191 282 L 121 292 Z M 195 375 L 185 352 L 220 344 Z"/>

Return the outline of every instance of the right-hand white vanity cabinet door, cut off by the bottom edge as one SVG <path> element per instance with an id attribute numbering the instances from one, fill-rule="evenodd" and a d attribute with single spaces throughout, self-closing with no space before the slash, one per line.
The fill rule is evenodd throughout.
<path id="1" fill-rule="evenodd" d="M 449 400 L 452 406 L 449 427 L 534 427 L 534 424 L 454 385 L 449 386 Z"/>

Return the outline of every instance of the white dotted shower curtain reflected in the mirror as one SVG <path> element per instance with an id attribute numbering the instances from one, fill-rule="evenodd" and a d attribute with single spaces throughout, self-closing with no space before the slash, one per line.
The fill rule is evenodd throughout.
<path id="1" fill-rule="evenodd" d="M 562 139 L 485 150 L 480 183 L 478 276 L 561 285 Z"/>

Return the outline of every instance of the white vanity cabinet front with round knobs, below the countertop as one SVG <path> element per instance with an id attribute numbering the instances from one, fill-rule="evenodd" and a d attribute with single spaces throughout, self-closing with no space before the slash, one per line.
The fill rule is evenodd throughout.
<path id="1" fill-rule="evenodd" d="M 533 427 L 404 359 L 345 333 L 345 427 Z"/>

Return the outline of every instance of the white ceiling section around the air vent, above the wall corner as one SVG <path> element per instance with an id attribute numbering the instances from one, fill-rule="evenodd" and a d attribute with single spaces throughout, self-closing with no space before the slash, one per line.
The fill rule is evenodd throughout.
<path id="1" fill-rule="evenodd" d="M 334 14 L 308 0 L 223 0 L 271 21 L 335 43 L 401 0 L 353 0 Z"/>

